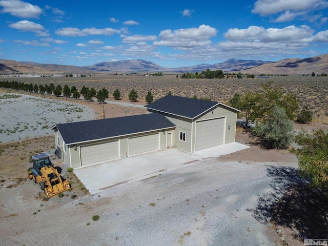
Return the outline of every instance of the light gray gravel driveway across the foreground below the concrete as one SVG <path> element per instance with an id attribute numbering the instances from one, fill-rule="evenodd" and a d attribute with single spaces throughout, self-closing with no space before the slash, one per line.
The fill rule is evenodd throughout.
<path id="1" fill-rule="evenodd" d="M 1 218 L 1 245 L 281 245 L 268 223 L 289 185 L 277 162 L 197 162 L 63 207 Z M 274 175 L 273 175 L 274 174 Z M 281 174 L 281 175 L 280 175 Z M 278 179 L 277 179 L 278 178 Z M 69 199 L 69 198 L 68 198 Z M 39 212 L 32 214 L 39 209 Z M 99 215 L 98 221 L 92 216 Z"/>

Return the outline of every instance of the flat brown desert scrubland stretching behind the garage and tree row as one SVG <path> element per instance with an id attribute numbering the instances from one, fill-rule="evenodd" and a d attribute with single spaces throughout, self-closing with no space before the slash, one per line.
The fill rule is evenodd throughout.
<path id="1" fill-rule="evenodd" d="M 97 91 L 106 88 L 112 97 L 118 89 L 121 98 L 128 98 L 131 89 L 135 89 L 138 100 L 145 101 L 148 91 L 154 100 L 165 96 L 169 91 L 173 95 L 197 98 L 211 98 L 221 103 L 228 103 L 235 93 L 257 91 L 261 84 L 273 81 L 283 88 L 284 92 L 293 92 L 300 100 L 301 106 L 309 106 L 314 113 L 314 121 L 328 124 L 328 78 L 312 76 L 271 76 L 270 78 L 244 79 L 182 79 L 175 75 L 136 76 L 136 75 L 93 75 L 92 77 L 37 77 L 16 78 L 18 82 L 46 85 L 75 86 L 80 90 L 83 86 L 95 88 Z M 33 93 L 31 93 L 33 94 Z"/>

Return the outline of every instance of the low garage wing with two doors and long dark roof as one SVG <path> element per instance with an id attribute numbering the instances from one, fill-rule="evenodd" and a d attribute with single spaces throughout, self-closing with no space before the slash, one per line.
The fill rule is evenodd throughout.
<path id="1" fill-rule="evenodd" d="M 59 124 L 56 146 L 72 168 L 165 149 L 175 125 L 161 114 L 143 114 Z M 165 133 L 165 134 L 163 134 Z"/>

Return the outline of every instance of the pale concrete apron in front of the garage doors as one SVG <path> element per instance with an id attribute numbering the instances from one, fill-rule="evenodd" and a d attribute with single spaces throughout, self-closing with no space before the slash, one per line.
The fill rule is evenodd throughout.
<path id="1" fill-rule="evenodd" d="M 150 178 L 193 165 L 199 161 L 247 148 L 250 147 L 238 142 L 215 146 L 194 153 L 169 148 L 77 168 L 74 169 L 74 173 L 91 194 L 96 194 L 105 188 Z"/>

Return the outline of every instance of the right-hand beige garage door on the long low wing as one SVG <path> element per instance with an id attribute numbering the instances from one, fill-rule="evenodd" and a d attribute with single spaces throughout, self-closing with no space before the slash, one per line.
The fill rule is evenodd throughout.
<path id="1" fill-rule="evenodd" d="M 159 133 L 129 138 L 129 155 L 159 149 Z"/>

